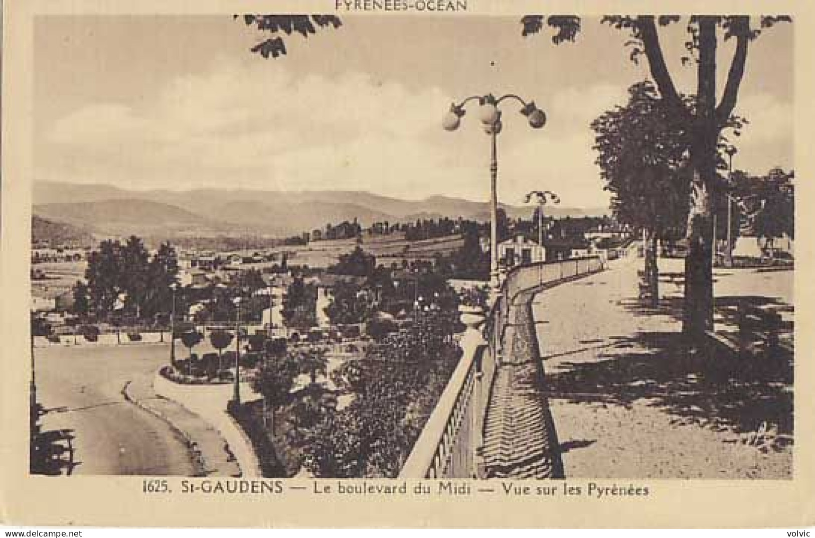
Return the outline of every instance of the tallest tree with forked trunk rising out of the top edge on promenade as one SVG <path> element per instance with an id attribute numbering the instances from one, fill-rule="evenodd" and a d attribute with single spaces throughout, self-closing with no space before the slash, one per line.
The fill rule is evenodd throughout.
<path id="1" fill-rule="evenodd" d="M 738 101 L 738 90 L 747 64 L 750 43 L 779 21 L 790 21 L 788 16 L 761 16 L 758 27 L 747 15 L 719 16 L 694 15 L 687 20 L 689 38 L 685 42 L 688 56 L 683 63 L 696 65 L 696 91 L 691 104 L 676 90 L 659 41 L 659 26 L 676 23 L 678 15 L 614 15 L 602 22 L 615 29 L 627 31 L 632 39 L 632 60 L 641 55 L 648 60 L 651 77 L 659 88 L 672 116 L 689 134 L 689 211 L 685 224 L 688 254 L 685 258 L 685 311 L 683 330 L 686 335 L 698 336 L 713 325 L 713 279 L 711 264 L 711 190 L 716 183 L 718 142 L 720 133 Z M 573 41 L 580 29 L 580 20 L 574 16 L 528 15 L 522 19 L 523 35 L 540 33 L 544 24 L 556 29 L 553 41 Z M 716 49 L 719 33 L 725 40 L 735 39 L 736 46 L 725 79 L 721 98 L 716 99 Z"/>

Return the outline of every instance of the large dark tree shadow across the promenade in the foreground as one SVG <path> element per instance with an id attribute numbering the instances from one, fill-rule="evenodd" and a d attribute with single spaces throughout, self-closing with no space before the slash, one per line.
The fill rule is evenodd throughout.
<path id="1" fill-rule="evenodd" d="M 558 372 L 546 374 L 549 393 L 584 404 L 646 400 L 682 421 L 737 432 L 766 422 L 792 433 L 792 360 L 782 351 L 750 358 L 689 353 L 681 333 L 643 332 L 617 338 L 597 359 L 559 362 Z"/>

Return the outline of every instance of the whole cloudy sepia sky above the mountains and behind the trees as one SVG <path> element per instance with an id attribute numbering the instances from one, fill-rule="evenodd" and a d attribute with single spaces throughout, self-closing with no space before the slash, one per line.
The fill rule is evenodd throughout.
<path id="1" fill-rule="evenodd" d="M 691 92 L 684 38 L 683 24 L 662 31 L 676 85 Z M 289 37 L 274 60 L 249 51 L 260 39 L 231 15 L 41 16 L 36 179 L 484 201 L 489 138 L 477 107 L 455 132 L 441 121 L 454 100 L 513 93 L 548 121 L 532 130 L 516 104 L 502 108 L 501 201 L 548 189 L 562 205 L 607 205 L 589 124 L 648 76 L 644 58 L 628 58 L 628 36 L 597 19 L 559 46 L 522 37 L 517 17 L 486 16 L 345 16 L 339 29 Z M 720 78 L 733 45 L 720 42 Z M 793 65 L 793 24 L 751 44 L 735 168 L 793 167 Z"/>

